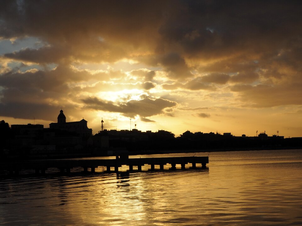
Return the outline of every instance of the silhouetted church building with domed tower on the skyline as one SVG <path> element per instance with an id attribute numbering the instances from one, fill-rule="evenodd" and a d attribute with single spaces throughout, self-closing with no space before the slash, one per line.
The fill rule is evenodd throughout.
<path id="1" fill-rule="evenodd" d="M 66 122 L 66 117 L 63 114 L 63 110 L 60 110 L 60 114 L 58 116 L 58 122 L 50 123 L 49 128 L 66 130 L 69 132 L 76 132 L 81 137 L 92 136 L 92 129 L 88 128 L 87 121 L 85 119 L 82 119 L 81 121 L 75 121 L 75 122 Z"/>

